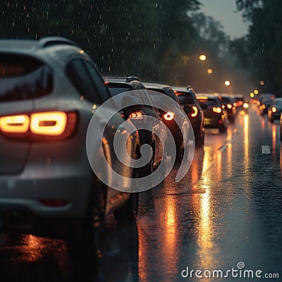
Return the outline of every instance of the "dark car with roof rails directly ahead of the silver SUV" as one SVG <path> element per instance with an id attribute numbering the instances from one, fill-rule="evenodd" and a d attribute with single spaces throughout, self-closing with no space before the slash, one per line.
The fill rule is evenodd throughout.
<path id="1" fill-rule="evenodd" d="M 128 93 L 128 97 L 134 97 L 137 99 L 137 104 L 140 105 L 140 109 L 133 111 L 129 118 L 137 129 L 146 128 L 149 125 L 149 130 L 138 129 L 141 147 L 142 145 L 149 145 L 153 151 L 152 158 L 147 165 L 142 166 L 139 170 L 141 177 L 149 176 L 159 167 L 164 159 L 164 148 L 161 140 L 166 140 L 166 128 L 161 122 L 161 117 L 154 106 L 154 102 L 145 85 L 135 76 L 125 78 L 104 77 L 104 82 L 109 88 L 112 97 L 117 94 Z M 120 106 L 122 107 L 122 103 Z M 149 152 L 146 155 L 149 156 Z M 159 175 L 159 179 L 163 177 L 163 175 Z"/>

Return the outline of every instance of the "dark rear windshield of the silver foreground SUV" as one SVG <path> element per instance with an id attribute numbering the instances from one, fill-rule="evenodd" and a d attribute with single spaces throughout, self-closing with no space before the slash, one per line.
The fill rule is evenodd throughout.
<path id="1" fill-rule="evenodd" d="M 33 99 L 53 89 L 52 71 L 28 56 L 0 54 L 0 101 Z"/>

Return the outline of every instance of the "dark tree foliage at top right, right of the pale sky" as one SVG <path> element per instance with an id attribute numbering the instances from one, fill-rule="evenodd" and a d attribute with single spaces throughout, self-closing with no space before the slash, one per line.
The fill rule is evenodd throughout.
<path id="1" fill-rule="evenodd" d="M 233 51 L 250 68 L 257 85 L 264 80 L 262 91 L 279 94 L 282 87 L 282 6 L 279 0 L 237 0 L 239 11 L 250 22 L 245 39 L 233 42 Z"/>

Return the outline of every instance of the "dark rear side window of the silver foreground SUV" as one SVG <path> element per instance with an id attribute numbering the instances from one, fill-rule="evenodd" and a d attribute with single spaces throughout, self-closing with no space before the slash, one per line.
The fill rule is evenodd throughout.
<path id="1" fill-rule="evenodd" d="M 95 72 L 94 68 L 92 69 L 87 63 L 84 59 L 71 59 L 66 66 L 66 74 L 81 96 L 90 102 L 102 104 L 109 98 L 107 96 L 109 92 L 99 73 Z"/>

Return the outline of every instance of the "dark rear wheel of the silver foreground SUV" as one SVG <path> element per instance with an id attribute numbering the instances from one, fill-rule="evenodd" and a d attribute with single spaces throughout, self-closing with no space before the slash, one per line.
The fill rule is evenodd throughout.
<path id="1" fill-rule="evenodd" d="M 101 257 L 99 245 L 104 223 L 106 185 L 100 180 L 95 182 L 87 214 L 84 218 L 71 222 L 70 231 L 66 238 L 68 252 L 73 259 L 99 260 Z"/>

